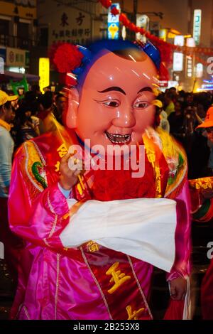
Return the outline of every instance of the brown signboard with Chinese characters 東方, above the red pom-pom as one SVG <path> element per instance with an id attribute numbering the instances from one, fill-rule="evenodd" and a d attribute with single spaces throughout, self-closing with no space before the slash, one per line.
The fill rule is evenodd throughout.
<path id="1" fill-rule="evenodd" d="M 91 17 L 83 11 L 53 12 L 50 22 L 49 45 L 59 41 L 87 45 L 91 41 Z"/>

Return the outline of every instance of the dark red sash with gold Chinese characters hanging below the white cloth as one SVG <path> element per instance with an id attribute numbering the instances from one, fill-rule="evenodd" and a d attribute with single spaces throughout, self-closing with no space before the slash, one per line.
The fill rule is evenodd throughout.
<path id="1" fill-rule="evenodd" d="M 94 242 L 80 249 L 111 319 L 152 319 L 130 257 Z"/>

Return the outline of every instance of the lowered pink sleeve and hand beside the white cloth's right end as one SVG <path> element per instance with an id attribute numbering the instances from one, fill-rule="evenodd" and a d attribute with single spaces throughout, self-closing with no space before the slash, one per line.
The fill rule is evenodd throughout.
<path id="1" fill-rule="evenodd" d="M 175 232 L 175 263 L 167 275 L 168 281 L 178 276 L 190 276 L 191 253 L 191 216 L 190 192 L 188 181 L 185 181 L 182 190 L 175 198 L 177 203 L 177 227 Z"/>

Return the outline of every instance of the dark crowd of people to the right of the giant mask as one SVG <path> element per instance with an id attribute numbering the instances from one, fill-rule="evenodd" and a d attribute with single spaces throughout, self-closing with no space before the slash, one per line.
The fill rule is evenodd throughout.
<path id="1" fill-rule="evenodd" d="M 162 102 L 155 102 L 160 115 L 158 124 L 160 122 L 160 126 L 184 147 L 189 166 L 188 178 L 212 176 L 212 141 L 206 130 L 197 129 L 212 106 L 212 93 L 177 92 L 172 87 L 160 94 L 158 101 Z"/>

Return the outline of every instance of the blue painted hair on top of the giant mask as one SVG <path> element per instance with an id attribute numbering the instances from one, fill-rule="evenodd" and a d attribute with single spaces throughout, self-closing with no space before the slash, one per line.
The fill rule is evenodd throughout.
<path id="1" fill-rule="evenodd" d="M 160 52 L 151 42 L 141 46 L 139 44 L 131 43 L 130 41 L 101 40 L 90 44 L 87 48 L 80 45 L 77 45 L 77 47 L 84 55 L 82 65 L 72 71 L 77 77 L 77 90 L 79 90 L 79 92 L 82 90 L 84 80 L 87 77 L 89 69 L 92 68 L 92 65 L 103 55 L 110 52 L 122 57 L 122 54 L 125 54 L 125 51 L 143 51 L 153 61 L 155 67 L 158 70 L 160 68 Z"/>

